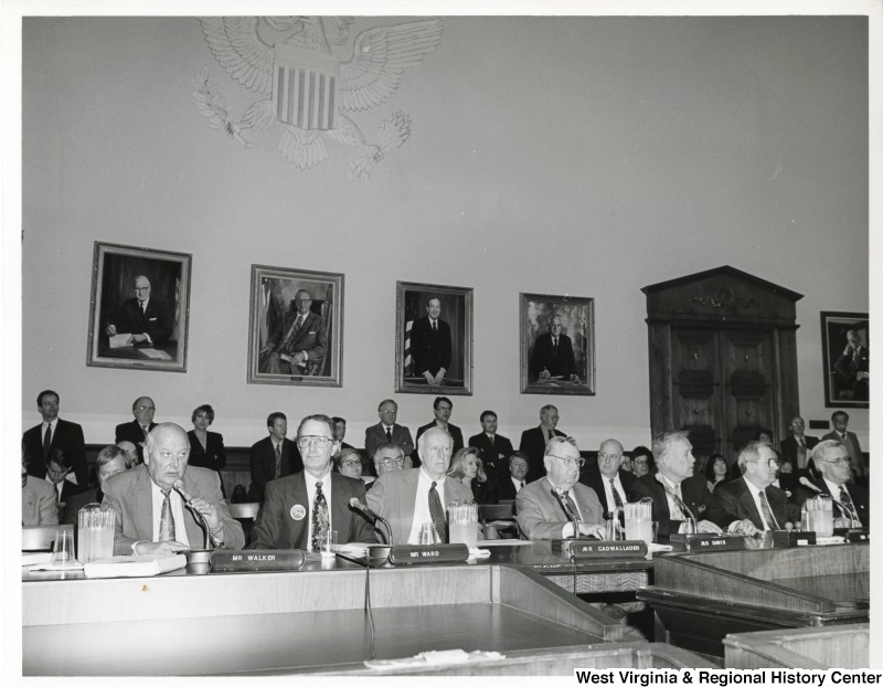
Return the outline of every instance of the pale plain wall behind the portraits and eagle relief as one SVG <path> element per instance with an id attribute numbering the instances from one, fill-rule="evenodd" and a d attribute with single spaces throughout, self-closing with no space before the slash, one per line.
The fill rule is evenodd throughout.
<path id="1" fill-rule="evenodd" d="M 401 21 L 358 20 L 369 24 Z M 640 287 L 730 264 L 802 293 L 801 412 L 823 405 L 820 310 L 866 311 L 868 47 L 862 18 L 447 18 L 384 106 L 406 144 L 371 179 L 354 152 L 300 171 L 280 129 L 246 150 L 191 96 L 208 66 L 233 117 L 256 98 L 194 19 L 26 19 L 23 30 L 22 423 L 62 395 L 87 442 L 131 401 L 189 427 L 212 403 L 232 445 L 283 410 L 343 415 L 360 444 L 393 395 L 395 282 L 475 288 L 468 434 L 493 408 L 518 440 L 549 399 L 519 393 L 520 292 L 596 299 L 597 395 L 552 399 L 582 447 L 649 441 Z M 185 374 L 86 367 L 95 241 L 193 254 Z M 252 264 L 345 274 L 343 387 L 249 385 Z M 398 394 L 400 421 L 432 398 Z M 865 440 L 868 413 L 851 413 Z"/>

